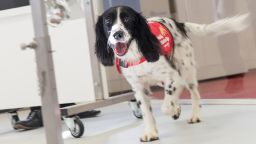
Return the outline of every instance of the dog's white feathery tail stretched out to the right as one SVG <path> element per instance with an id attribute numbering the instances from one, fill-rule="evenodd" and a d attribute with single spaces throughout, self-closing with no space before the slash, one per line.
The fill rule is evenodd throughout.
<path id="1" fill-rule="evenodd" d="M 240 32 L 250 25 L 250 14 L 246 13 L 225 18 L 211 24 L 185 23 L 188 33 L 195 35 L 223 35 L 230 32 Z"/>

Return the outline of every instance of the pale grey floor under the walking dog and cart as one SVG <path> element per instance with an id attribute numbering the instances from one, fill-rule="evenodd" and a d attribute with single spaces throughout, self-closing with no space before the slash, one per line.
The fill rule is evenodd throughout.
<path id="1" fill-rule="evenodd" d="M 160 111 L 161 101 L 153 101 L 160 140 L 152 144 L 255 144 L 255 105 L 203 105 L 200 124 L 186 123 L 190 105 L 182 105 L 180 119 L 174 121 Z M 141 120 L 133 117 L 127 103 L 102 108 L 97 118 L 83 119 L 85 134 L 73 138 L 63 124 L 65 144 L 137 144 L 143 132 Z M 20 112 L 24 118 L 27 111 Z M 44 129 L 15 131 L 8 114 L 0 115 L 0 144 L 45 144 Z M 149 143 L 149 144 L 151 144 Z"/>

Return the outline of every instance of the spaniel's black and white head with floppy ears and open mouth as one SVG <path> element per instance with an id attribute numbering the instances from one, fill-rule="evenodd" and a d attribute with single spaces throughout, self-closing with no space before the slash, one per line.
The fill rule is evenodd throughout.
<path id="1" fill-rule="evenodd" d="M 96 23 L 96 55 L 105 66 L 113 65 L 115 57 L 124 57 L 131 42 L 148 62 L 159 59 L 159 41 L 150 32 L 146 19 L 130 7 L 106 10 Z"/>

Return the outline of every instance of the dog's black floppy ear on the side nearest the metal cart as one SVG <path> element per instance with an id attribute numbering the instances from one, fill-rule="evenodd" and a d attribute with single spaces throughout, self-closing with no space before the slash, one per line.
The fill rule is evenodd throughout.
<path id="1" fill-rule="evenodd" d="M 95 53 L 104 66 L 112 66 L 114 64 L 114 53 L 108 47 L 108 40 L 103 27 L 103 17 L 100 16 L 96 23 L 96 45 Z"/>

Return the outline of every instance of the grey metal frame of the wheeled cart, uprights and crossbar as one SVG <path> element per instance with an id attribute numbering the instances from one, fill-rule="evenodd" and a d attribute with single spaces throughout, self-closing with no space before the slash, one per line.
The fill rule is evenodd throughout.
<path id="1" fill-rule="evenodd" d="M 96 102 L 79 104 L 61 109 L 61 112 L 66 117 L 73 116 L 80 112 L 91 109 L 96 109 L 120 102 L 134 100 L 132 92 L 114 96 L 111 98 L 104 98 L 103 84 L 101 80 L 100 65 L 94 55 L 93 47 L 95 42 L 94 32 L 94 13 L 93 0 L 84 0 L 84 11 L 86 21 L 86 31 L 88 34 L 87 43 L 90 49 L 90 58 L 92 66 L 92 77 L 94 82 L 94 92 Z M 40 83 L 40 95 L 42 101 L 43 121 L 45 127 L 47 144 L 63 144 L 61 115 L 59 103 L 57 99 L 57 88 L 55 80 L 55 72 L 53 65 L 53 56 L 51 49 L 50 36 L 47 29 L 46 10 L 44 0 L 30 0 L 32 9 L 32 17 L 34 24 L 35 42 L 25 47 L 35 49 L 37 72 Z M 25 48 L 24 47 L 24 48 Z"/>

